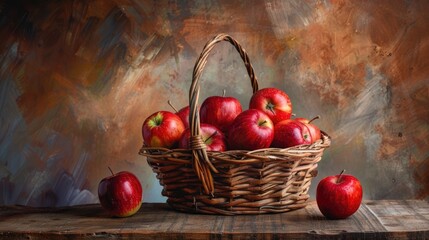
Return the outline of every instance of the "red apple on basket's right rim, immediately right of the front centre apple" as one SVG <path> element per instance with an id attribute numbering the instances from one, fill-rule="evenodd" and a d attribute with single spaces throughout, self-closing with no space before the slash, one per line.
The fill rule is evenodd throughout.
<path id="1" fill-rule="evenodd" d="M 274 126 L 272 147 L 288 148 L 302 144 L 311 144 L 310 130 L 304 123 L 288 119 Z"/>

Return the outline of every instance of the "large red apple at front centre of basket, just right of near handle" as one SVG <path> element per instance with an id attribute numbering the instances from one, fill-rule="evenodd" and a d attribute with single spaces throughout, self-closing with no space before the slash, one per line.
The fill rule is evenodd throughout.
<path id="1" fill-rule="evenodd" d="M 228 133 L 230 149 L 255 150 L 267 148 L 274 136 L 274 125 L 270 117 L 258 109 L 240 113 Z"/>

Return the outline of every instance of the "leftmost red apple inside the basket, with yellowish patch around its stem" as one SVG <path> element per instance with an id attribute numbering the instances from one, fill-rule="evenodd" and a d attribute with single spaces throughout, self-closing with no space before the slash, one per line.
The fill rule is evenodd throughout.
<path id="1" fill-rule="evenodd" d="M 179 116 L 168 111 L 158 111 L 143 123 L 143 140 L 148 147 L 173 148 L 177 145 L 185 125 Z"/>

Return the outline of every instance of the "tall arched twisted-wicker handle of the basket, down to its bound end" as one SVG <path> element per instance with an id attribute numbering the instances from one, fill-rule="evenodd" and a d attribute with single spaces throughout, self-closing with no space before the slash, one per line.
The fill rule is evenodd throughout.
<path id="1" fill-rule="evenodd" d="M 203 69 L 206 66 L 207 58 L 210 54 L 210 51 L 214 48 L 216 43 L 221 41 L 230 42 L 235 49 L 237 49 L 238 53 L 241 56 L 241 59 L 244 62 L 247 73 L 250 77 L 250 83 L 252 85 L 253 93 L 258 91 L 258 81 L 253 71 L 253 67 L 250 64 L 249 56 L 246 51 L 241 47 L 241 45 L 234 40 L 231 36 L 221 33 L 216 35 L 213 39 L 206 43 L 201 52 L 197 62 L 194 66 L 194 71 L 192 75 L 192 84 L 189 89 L 189 124 L 191 128 L 191 146 L 192 155 L 193 155 L 193 167 L 194 171 L 200 179 L 204 191 L 207 194 L 214 193 L 214 182 L 211 171 L 218 173 L 216 168 L 210 162 L 209 157 L 206 151 L 206 145 L 204 144 L 202 137 L 200 135 L 200 117 L 198 114 L 198 98 L 200 95 L 200 77 L 202 75 Z"/>

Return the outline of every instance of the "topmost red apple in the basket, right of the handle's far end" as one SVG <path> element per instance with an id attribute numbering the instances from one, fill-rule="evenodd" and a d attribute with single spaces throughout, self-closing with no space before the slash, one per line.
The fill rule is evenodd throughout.
<path id="1" fill-rule="evenodd" d="M 249 108 L 265 112 L 274 124 L 290 119 L 292 115 L 289 96 L 277 88 L 263 88 L 255 92 L 250 99 Z"/>

